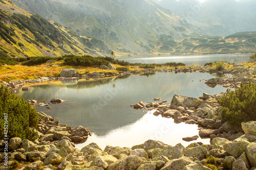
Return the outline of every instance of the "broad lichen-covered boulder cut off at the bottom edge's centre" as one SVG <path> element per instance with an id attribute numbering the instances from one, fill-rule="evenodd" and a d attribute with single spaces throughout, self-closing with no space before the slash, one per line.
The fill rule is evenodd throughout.
<path id="1" fill-rule="evenodd" d="M 127 156 L 125 158 L 119 159 L 111 164 L 109 164 L 107 170 L 136 170 L 141 164 L 145 163 L 145 161 L 139 158 L 136 155 Z"/>

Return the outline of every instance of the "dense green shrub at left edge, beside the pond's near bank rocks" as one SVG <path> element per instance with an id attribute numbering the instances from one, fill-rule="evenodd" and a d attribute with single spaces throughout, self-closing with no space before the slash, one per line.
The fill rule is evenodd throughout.
<path id="1" fill-rule="evenodd" d="M 20 137 L 22 139 L 34 140 L 37 138 L 33 131 L 38 124 L 38 113 L 35 108 L 12 93 L 3 85 L 0 87 L 0 138 Z M 4 131 L 8 125 L 8 133 Z"/>

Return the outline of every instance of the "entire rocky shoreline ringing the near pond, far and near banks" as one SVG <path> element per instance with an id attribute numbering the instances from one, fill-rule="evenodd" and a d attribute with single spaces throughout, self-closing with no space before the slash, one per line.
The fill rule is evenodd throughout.
<path id="1" fill-rule="evenodd" d="M 240 66 L 239 66 L 240 67 Z M 130 76 L 153 72 L 210 72 L 217 74 L 232 74 L 231 78 L 215 78 L 207 80 L 206 84 L 214 86 L 220 84 L 238 88 L 240 83 L 254 82 L 255 68 L 240 67 L 237 69 L 212 71 L 208 66 L 201 68 L 146 69 L 144 71 L 123 72 L 110 76 Z M 98 75 L 98 74 L 94 74 Z M 80 79 L 88 77 L 103 77 L 81 75 L 79 77 L 40 78 L 36 80 L 2 82 L 11 89 L 23 88 L 25 83 L 51 81 L 60 79 Z M 104 75 L 104 77 L 108 77 Z M 29 90 L 25 89 L 23 90 Z M 187 147 L 178 143 L 175 146 L 161 141 L 147 140 L 132 148 L 120 148 L 107 145 L 102 150 L 96 143 L 90 143 L 82 149 L 75 148 L 75 143 L 84 142 L 92 133 L 79 126 L 77 128 L 61 125 L 43 112 L 36 129 L 38 139 L 29 141 L 18 137 L 11 138 L 9 143 L 0 140 L 0 168 L 1 169 L 65 169 L 65 170 L 118 170 L 118 169 L 256 169 L 256 122 L 242 123 L 242 128 L 236 128 L 221 122 L 221 110 L 217 100 L 224 93 L 210 95 L 203 93 L 200 98 L 190 98 L 175 94 L 172 102 L 160 101 L 143 103 L 132 107 L 155 110 L 154 115 L 163 118 L 173 118 L 176 123 L 197 124 L 200 128 L 199 136 L 210 138 L 210 144 L 194 142 Z M 31 101 L 32 102 L 32 101 Z M 193 141 L 199 136 L 184 137 L 183 140 Z M 3 148 L 8 145 L 8 154 Z M 5 165 L 8 161 L 9 167 Z M 16 167 L 15 167 L 16 166 Z M 217 168 L 216 168 L 217 169 Z"/>

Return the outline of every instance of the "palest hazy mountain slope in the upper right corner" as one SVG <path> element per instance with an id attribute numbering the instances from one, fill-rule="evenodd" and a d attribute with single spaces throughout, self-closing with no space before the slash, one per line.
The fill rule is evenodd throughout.
<path id="1" fill-rule="evenodd" d="M 254 0 L 153 0 L 204 30 L 201 35 L 227 36 L 256 30 Z"/>

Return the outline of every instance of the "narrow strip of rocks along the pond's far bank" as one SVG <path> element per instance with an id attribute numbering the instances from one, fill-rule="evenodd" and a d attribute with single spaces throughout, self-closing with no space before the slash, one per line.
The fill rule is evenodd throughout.
<path id="1" fill-rule="evenodd" d="M 139 68 L 139 67 L 138 67 Z M 244 67 L 243 64 L 234 63 L 232 69 L 213 69 L 211 66 L 196 66 L 188 68 L 161 68 L 161 69 L 144 69 L 144 70 L 134 70 L 134 71 L 124 71 L 121 73 L 105 73 L 100 74 L 99 72 L 93 72 L 92 74 L 83 74 L 80 75 L 79 72 L 74 68 L 65 68 L 60 72 L 60 77 L 41 77 L 33 80 L 19 80 L 19 81 L 0 81 L 4 86 L 10 88 L 10 90 L 15 91 L 15 88 L 22 89 L 24 91 L 29 90 L 28 87 L 23 87 L 26 83 L 39 83 L 42 81 L 54 81 L 54 80 L 65 80 L 65 79 L 99 79 L 99 78 L 109 78 L 109 77 L 118 77 L 118 76 L 131 76 L 139 74 L 153 74 L 155 72 L 208 72 L 209 74 L 223 75 L 230 74 L 232 77 L 218 77 L 214 78 L 214 81 L 206 81 L 206 84 L 210 87 L 215 87 L 216 85 L 222 85 L 223 87 L 229 88 L 239 88 L 240 83 L 247 84 L 249 80 L 252 83 L 256 82 L 253 78 L 256 75 L 256 66 L 253 68 Z"/>

